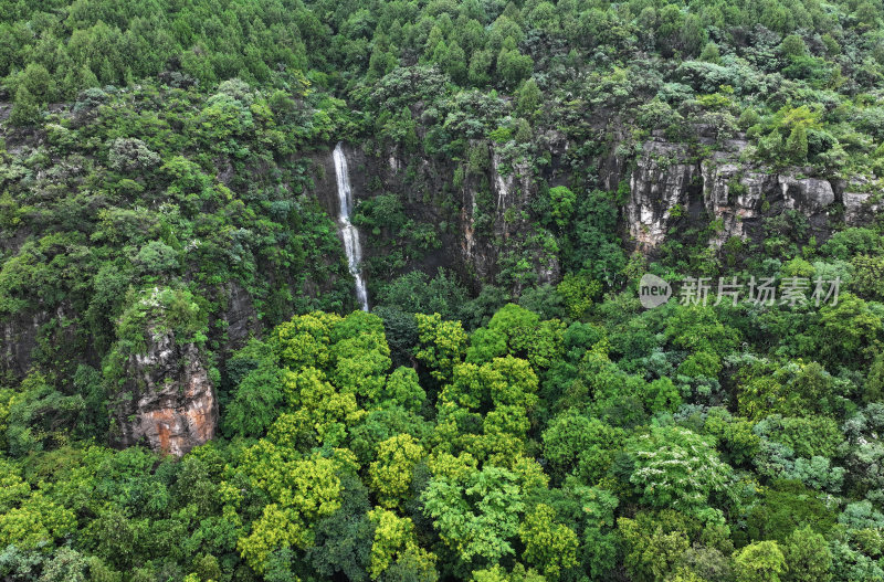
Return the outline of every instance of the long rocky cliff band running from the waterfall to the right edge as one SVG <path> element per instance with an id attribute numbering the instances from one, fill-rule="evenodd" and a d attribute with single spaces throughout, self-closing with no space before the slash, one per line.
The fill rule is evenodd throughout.
<path id="1" fill-rule="evenodd" d="M 748 146 L 744 138 L 716 142 L 698 136 L 698 144 L 675 144 L 661 136 L 641 145 L 632 158 L 631 148 L 622 148 L 629 136 L 618 124 L 598 128 L 609 145 L 594 158 L 581 163 L 597 168 L 597 182 L 587 188 L 608 191 L 622 180 L 629 197 L 620 209 L 621 232 L 625 245 L 654 254 L 671 236 L 678 236 L 685 224 L 716 223 L 709 245 L 720 247 L 728 239 L 760 242 L 765 219 L 796 211 L 808 221 L 809 234 L 819 243 L 839 226 L 859 226 L 871 222 L 878 205 L 863 192 L 861 180 L 848 182 L 814 176 L 810 168 L 774 169 L 741 159 Z M 543 248 L 543 227 L 530 214 L 540 182 L 554 187 L 571 186 L 573 160 L 564 163 L 577 145 L 555 131 L 543 136 L 541 152 L 547 162 L 536 163 L 537 145 L 530 156 L 513 155 L 512 148 L 471 141 L 470 148 L 485 148 L 485 165 L 480 170 L 465 161 L 430 159 L 409 155 L 398 147 L 372 150 L 372 146 L 348 146 L 345 152 L 350 182 L 357 199 L 393 192 L 409 219 L 429 223 L 441 241 L 436 250 L 410 257 L 403 271 L 419 268 L 434 272 L 445 267 L 457 272 L 474 288 L 493 283 L 504 263 L 517 250 L 528 257 L 528 268 L 539 284 L 556 284 L 561 277 L 558 258 Z M 471 149 L 471 155 L 473 150 Z M 532 156 L 535 162 L 529 161 Z M 625 157 L 624 157 L 625 156 Z M 337 194 L 332 151 L 312 155 L 314 193 L 330 214 L 337 213 Z M 591 172 L 589 172 L 591 173 Z M 456 177 L 456 178 L 455 178 Z M 448 230 L 441 227 L 448 224 Z M 362 233 L 367 257 L 382 254 L 394 242 L 390 233 L 376 236 Z M 371 273 L 369 281 L 390 278 L 396 273 Z M 518 283 L 511 290 L 520 292 Z"/>

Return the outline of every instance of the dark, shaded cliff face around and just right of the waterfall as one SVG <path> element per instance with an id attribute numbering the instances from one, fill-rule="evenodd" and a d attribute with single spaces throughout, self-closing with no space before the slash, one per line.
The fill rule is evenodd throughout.
<path id="1" fill-rule="evenodd" d="M 538 188 L 530 165 L 509 159 L 493 146 L 485 152 L 487 165 L 481 171 L 465 170 L 465 163 L 450 159 L 428 159 L 392 147 L 383 151 L 366 151 L 345 146 L 350 170 L 350 184 L 357 200 L 392 192 L 404 213 L 415 223 L 430 224 L 440 245 L 411 257 L 407 269 L 429 272 L 444 267 L 457 272 L 469 284 L 493 282 L 501 271 L 501 258 L 520 246 L 533 257 L 530 269 L 539 283 L 556 283 L 560 268 L 554 255 L 543 253 L 530 242 L 537 227 L 527 209 Z M 332 215 L 338 212 L 332 149 L 309 156 L 313 162 L 314 194 Z M 462 172 L 456 186 L 452 177 Z M 441 225 L 446 225 L 442 229 Z M 367 257 L 388 251 L 389 233 L 372 241 L 362 233 L 362 251 Z M 367 273 L 369 281 L 372 275 Z M 518 292 L 518 289 L 514 289 Z"/>

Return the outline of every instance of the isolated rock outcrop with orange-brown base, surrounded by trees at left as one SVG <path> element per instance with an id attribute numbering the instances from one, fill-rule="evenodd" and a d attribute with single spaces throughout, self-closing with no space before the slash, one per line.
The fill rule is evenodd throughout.
<path id="1" fill-rule="evenodd" d="M 218 401 L 197 346 L 176 345 L 170 331 L 157 328 L 150 337 L 147 350 L 124 367 L 116 444 L 145 443 L 180 456 L 214 436 Z"/>

